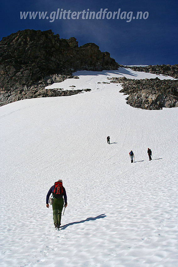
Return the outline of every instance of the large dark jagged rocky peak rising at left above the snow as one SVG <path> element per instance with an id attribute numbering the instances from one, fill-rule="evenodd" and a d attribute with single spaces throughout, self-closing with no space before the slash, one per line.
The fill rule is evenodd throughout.
<path id="1" fill-rule="evenodd" d="M 94 43 L 78 47 L 74 37 L 60 39 L 51 30 L 18 31 L 0 41 L 0 106 L 25 98 L 53 96 L 54 92 L 44 87 L 67 79 L 74 71 L 114 70 L 118 66 Z"/>

